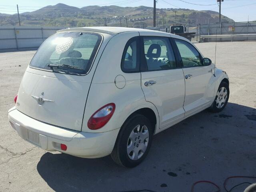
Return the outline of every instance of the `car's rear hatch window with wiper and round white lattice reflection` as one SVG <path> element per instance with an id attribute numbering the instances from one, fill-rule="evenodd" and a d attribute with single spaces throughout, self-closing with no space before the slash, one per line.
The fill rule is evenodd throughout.
<path id="1" fill-rule="evenodd" d="M 68 74 L 87 74 L 102 36 L 90 32 L 62 32 L 40 46 L 30 66 Z"/>

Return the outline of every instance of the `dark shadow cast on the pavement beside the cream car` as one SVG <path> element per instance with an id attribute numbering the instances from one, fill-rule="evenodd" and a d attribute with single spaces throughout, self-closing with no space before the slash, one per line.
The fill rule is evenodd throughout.
<path id="1" fill-rule="evenodd" d="M 118 166 L 110 156 L 46 152 L 37 170 L 57 192 L 190 191 L 198 180 L 222 186 L 228 176 L 255 174 L 255 128 L 255 108 L 228 103 L 220 113 L 205 110 L 156 134 L 147 158 L 135 168 Z"/>

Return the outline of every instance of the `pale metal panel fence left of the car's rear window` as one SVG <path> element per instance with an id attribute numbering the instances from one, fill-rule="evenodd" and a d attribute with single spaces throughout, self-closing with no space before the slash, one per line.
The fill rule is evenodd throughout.
<path id="1" fill-rule="evenodd" d="M 63 28 L 0 26 L 0 50 L 38 48 L 46 38 Z"/>

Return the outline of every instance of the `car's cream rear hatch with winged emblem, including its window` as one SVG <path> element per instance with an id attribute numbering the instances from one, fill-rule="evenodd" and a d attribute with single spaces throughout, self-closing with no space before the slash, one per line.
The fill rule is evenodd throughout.
<path id="1" fill-rule="evenodd" d="M 42 122 L 80 131 L 94 73 L 90 70 L 97 62 L 102 39 L 100 34 L 85 31 L 60 32 L 48 38 L 22 78 L 17 110 Z"/>

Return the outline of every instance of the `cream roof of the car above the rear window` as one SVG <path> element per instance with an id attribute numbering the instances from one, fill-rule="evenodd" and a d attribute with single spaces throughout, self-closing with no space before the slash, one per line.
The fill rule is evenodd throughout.
<path id="1" fill-rule="evenodd" d="M 119 34 L 123 32 L 155 32 L 156 35 L 159 33 L 165 33 L 161 31 L 154 31 L 148 29 L 140 29 L 140 28 L 128 28 L 128 27 L 80 27 L 80 28 L 67 28 L 58 30 L 57 32 L 64 32 L 64 31 L 92 31 L 92 32 L 100 32 L 100 33 L 107 33 L 107 34 Z"/>

